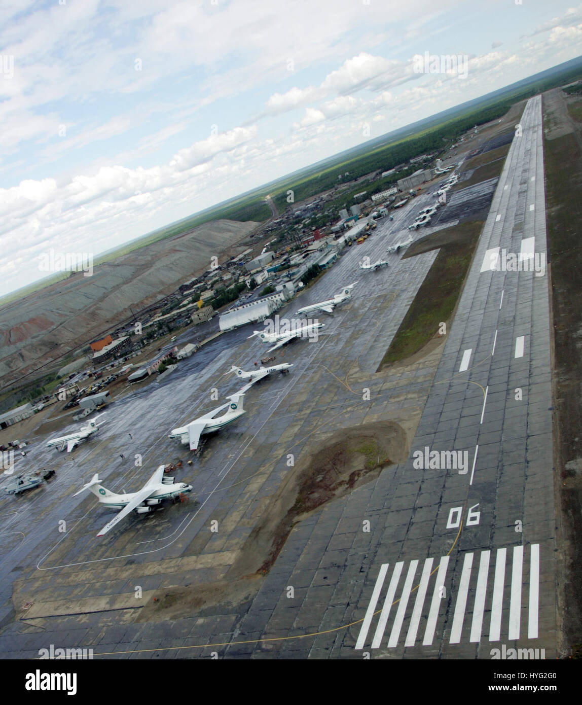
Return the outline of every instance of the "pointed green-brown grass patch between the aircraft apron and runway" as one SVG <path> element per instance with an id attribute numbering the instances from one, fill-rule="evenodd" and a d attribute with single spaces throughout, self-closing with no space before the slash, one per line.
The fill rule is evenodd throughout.
<path id="1" fill-rule="evenodd" d="M 385 365 L 406 360 L 418 353 L 437 334 L 439 324 L 450 319 L 482 226 L 483 221 L 472 221 L 451 228 L 450 238 L 453 241 L 444 245 L 437 240 L 432 244 L 431 236 L 426 238 L 423 243 L 425 247 L 421 251 L 428 252 L 440 247 L 440 252 L 396 331 L 378 372 Z M 441 233 L 436 235 L 440 235 L 442 242 Z M 414 254 L 420 254 L 419 250 Z"/>

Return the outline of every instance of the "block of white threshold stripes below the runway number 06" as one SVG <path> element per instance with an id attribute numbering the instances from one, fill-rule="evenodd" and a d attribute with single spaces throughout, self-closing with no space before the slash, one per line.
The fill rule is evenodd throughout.
<path id="1" fill-rule="evenodd" d="M 402 627 L 407 619 L 407 614 L 410 615 L 410 625 L 405 632 L 404 646 L 408 647 L 419 645 L 419 625 L 423 618 L 426 619 L 426 629 L 422 637 L 423 646 L 433 645 L 439 617 L 444 620 L 442 628 L 447 627 L 452 620 L 450 644 L 459 644 L 464 640 L 476 643 L 481 642 L 482 639 L 488 639 L 489 642 L 498 642 L 502 638 L 519 639 L 522 606 L 527 607 L 527 617 L 526 610 L 523 611 L 524 632 L 525 620 L 527 620 L 528 638 L 538 639 L 540 545 L 531 544 L 529 547 L 529 591 L 522 587 L 523 566 L 524 560 L 527 560 L 525 556 L 527 550 L 524 546 L 514 546 L 513 548 L 510 594 L 506 589 L 506 587 L 509 588 L 509 576 L 507 586 L 505 580 L 507 548 L 497 548 L 497 551 L 484 550 L 464 553 L 461 575 L 456 579 L 454 575 L 450 576 L 450 585 L 447 587 L 445 587 L 445 578 L 447 577 L 449 556 L 426 558 L 420 577 L 417 575 L 419 560 L 395 563 L 388 582 L 388 589 L 385 587 L 388 563 L 383 563 L 366 609 L 355 648 L 364 649 L 366 645 L 372 622 L 376 616 L 374 613 L 382 599 L 383 591 L 386 591 L 386 594 L 378 618 L 378 625 L 373 635 L 372 649 L 379 649 L 383 645 L 384 635 L 388 632 L 390 633 L 387 644 L 389 649 L 395 649 L 399 642 L 402 643 L 402 639 L 404 639 Z M 436 561 L 439 561 L 438 571 L 433 569 L 433 564 Z M 405 563 L 408 565 L 405 566 Z M 456 563 L 460 567 L 461 561 L 457 560 Z M 495 568 L 493 568 L 494 563 Z M 400 578 L 404 570 L 406 570 L 406 580 L 401 585 Z M 493 591 L 491 587 L 493 587 Z M 432 597 L 429 600 L 428 594 L 431 590 Z M 414 591 L 416 591 L 416 599 L 413 600 Z M 528 597 L 526 597 L 527 593 Z M 454 612 L 452 612 L 453 607 L 450 602 L 445 599 L 448 594 L 456 596 Z M 526 600 L 528 600 L 527 605 Z M 395 606 L 396 602 L 398 608 L 392 610 L 392 606 Z M 443 611 L 447 610 L 447 615 L 440 614 L 441 608 Z M 486 616 L 488 612 L 490 612 L 490 618 Z M 390 620 L 392 620 L 391 624 Z M 465 621 L 467 621 L 466 627 L 469 627 L 469 620 L 470 630 L 469 628 L 463 630 Z M 463 637 L 463 633 L 465 633 L 465 637 Z"/>

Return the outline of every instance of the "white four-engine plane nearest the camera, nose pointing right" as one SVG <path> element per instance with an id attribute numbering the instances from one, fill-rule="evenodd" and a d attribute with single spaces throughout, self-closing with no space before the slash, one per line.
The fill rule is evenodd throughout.
<path id="1" fill-rule="evenodd" d="M 73 497 L 81 494 L 81 492 L 84 492 L 86 489 L 90 489 L 101 504 L 104 504 L 106 507 L 121 510 L 101 529 L 97 536 L 103 536 L 109 529 L 113 529 L 118 522 L 134 509 L 138 514 L 147 514 L 151 512 L 153 506 L 160 504 L 163 499 L 177 497 L 180 494 L 192 491 L 192 485 L 186 484 L 185 482 L 174 482 L 173 477 L 163 477 L 164 467 L 164 465 L 160 465 L 146 484 L 144 484 L 143 488 L 137 492 L 130 492 L 129 494 L 125 491 L 123 494 L 110 492 L 109 489 L 106 489 L 100 484 L 99 474 L 94 474 L 91 482 L 87 482 L 78 492 L 75 492 Z"/>

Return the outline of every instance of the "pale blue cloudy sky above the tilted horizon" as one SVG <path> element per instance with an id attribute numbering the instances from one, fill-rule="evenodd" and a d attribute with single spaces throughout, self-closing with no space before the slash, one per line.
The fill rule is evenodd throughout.
<path id="1" fill-rule="evenodd" d="M 0 295 L 580 47 L 562 0 L 2 0 Z"/>

